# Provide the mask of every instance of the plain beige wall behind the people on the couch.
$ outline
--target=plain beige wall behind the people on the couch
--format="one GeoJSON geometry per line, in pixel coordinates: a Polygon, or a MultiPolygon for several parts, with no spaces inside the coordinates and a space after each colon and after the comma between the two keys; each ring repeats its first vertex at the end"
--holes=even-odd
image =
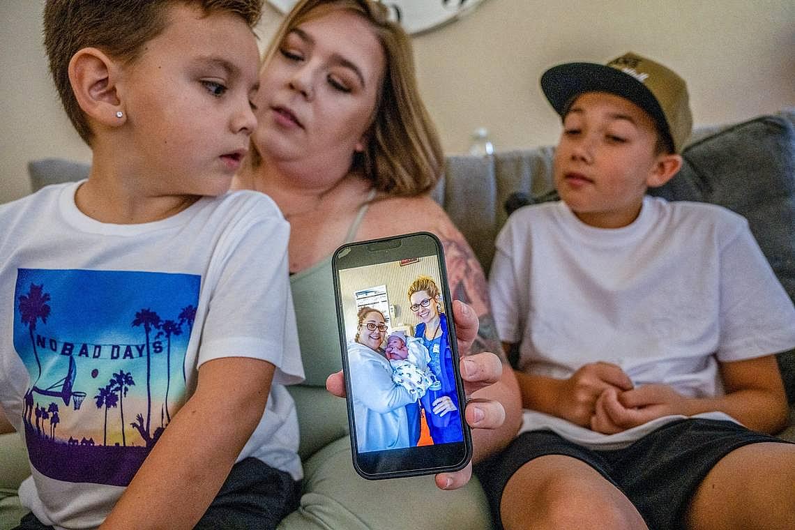
{"type": "MultiPolygon", "coordinates": [[[[0,0],[0,203],[29,192],[30,159],[90,160],[48,77],[41,6],[0,0]]],[[[267,10],[264,39],[277,21],[267,10]]],[[[630,50],[687,79],[696,125],[795,105],[792,0],[487,0],[414,44],[421,91],[448,153],[465,152],[479,126],[497,149],[553,143],[558,120],[538,87],[545,68],[630,50]]]]}

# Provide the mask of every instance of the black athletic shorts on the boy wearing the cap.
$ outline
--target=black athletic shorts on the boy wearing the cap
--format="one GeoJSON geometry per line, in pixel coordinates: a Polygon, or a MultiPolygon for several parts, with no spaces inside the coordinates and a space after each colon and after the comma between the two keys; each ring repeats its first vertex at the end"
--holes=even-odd
{"type": "Polygon", "coordinates": [[[684,528],[691,497],[721,458],[760,442],[789,443],[732,421],[703,419],[673,421],[612,451],[593,451],[552,431],[530,431],[477,464],[475,474],[486,491],[496,528],[502,528],[502,491],[514,473],[533,458],[566,455],[587,463],[621,490],[650,529],[669,530],[684,528]]]}

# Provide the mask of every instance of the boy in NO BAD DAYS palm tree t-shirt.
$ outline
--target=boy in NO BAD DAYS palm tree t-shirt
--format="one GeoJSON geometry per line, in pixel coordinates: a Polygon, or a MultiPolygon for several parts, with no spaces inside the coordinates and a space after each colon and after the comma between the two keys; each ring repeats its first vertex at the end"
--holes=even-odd
{"type": "Polygon", "coordinates": [[[273,528],[301,478],[289,226],[225,194],[257,124],[262,1],[135,4],[47,2],[91,174],[0,207],[21,528],[273,528]]]}

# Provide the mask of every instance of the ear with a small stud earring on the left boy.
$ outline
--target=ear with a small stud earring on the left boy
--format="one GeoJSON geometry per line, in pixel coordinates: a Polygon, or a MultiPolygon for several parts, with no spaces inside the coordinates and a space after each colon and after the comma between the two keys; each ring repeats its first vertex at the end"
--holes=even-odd
{"type": "Polygon", "coordinates": [[[77,103],[91,121],[105,126],[126,121],[116,86],[120,68],[114,60],[97,48],[82,48],[69,61],[68,72],[77,103]]]}

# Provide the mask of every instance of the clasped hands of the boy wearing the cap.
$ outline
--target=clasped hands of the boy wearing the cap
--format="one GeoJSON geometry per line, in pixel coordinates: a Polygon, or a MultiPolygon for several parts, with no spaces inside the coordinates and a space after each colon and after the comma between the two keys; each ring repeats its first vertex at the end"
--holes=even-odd
{"type": "Polygon", "coordinates": [[[661,416],[684,413],[685,398],[669,385],[634,388],[608,362],[580,367],[561,387],[558,416],[603,434],[615,434],[661,416]]]}

